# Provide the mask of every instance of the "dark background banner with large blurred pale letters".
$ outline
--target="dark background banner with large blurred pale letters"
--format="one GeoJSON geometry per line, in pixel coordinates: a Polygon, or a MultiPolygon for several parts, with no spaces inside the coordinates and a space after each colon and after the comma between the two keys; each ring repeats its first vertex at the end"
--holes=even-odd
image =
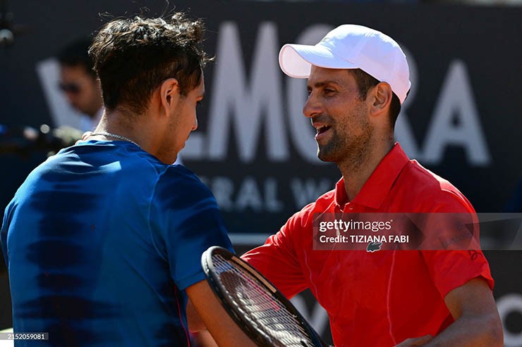
{"type": "MultiPolygon", "coordinates": [[[[198,109],[200,126],[181,156],[212,189],[238,249],[265,241],[340,178],[335,165],[316,158],[315,130],[301,113],[305,80],[286,77],[277,54],[285,43],[315,44],[344,23],[389,34],[406,52],[413,86],[396,125],[396,139],[406,153],[449,179],[478,212],[522,212],[522,189],[517,193],[522,178],[521,6],[9,1],[10,23],[18,29],[13,29],[13,40],[0,38],[4,134],[42,124],[78,127],[78,114],[57,87],[56,52],[110,18],[140,13],[145,6],[145,15],[175,7],[207,23],[205,47],[217,60],[205,69],[207,96],[198,109]]],[[[0,146],[1,134],[0,128],[0,146]]],[[[38,151],[0,151],[2,213],[18,185],[44,158],[38,151]]],[[[500,301],[510,320],[511,344],[506,346],[522,346],[519,253],[490,253],[497,299],[509,298],[500,301]],[[503,276],[516,280],[504,281],[503,276]]],[[[323,324],[319,318],[317,322],[323,324]]]]}

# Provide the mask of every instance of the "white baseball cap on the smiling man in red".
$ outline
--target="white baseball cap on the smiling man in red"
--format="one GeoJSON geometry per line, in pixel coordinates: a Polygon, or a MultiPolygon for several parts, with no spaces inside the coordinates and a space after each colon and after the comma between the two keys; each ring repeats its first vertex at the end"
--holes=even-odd
{"type": "Polygon", "coordinates": [[[403,103],[411,87],[408,62],[391,37],[362,25],[345,24],[329,32],[318,44],[285,44],[279,65],[286,75],[308,78],[312,65],[331,69],[360,69],[387,82],[403,103]]]}

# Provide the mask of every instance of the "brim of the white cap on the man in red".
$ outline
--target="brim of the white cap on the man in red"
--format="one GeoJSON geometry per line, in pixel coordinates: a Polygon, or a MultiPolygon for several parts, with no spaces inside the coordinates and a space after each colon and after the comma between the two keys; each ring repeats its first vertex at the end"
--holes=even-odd
{"type": "Polygon", "coordinates": [[[312,65],[330,69],[355,69],[353,63],[339,58],[320,44],[285,44],[279,51],[279,66],[286,75],[308,78],[312,65]]]}

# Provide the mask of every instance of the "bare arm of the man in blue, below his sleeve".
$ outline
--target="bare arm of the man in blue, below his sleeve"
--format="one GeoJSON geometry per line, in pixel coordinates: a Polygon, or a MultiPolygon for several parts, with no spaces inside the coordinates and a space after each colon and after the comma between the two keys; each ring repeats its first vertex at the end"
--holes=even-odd
{"type": "MultiPolygon", "coordinates": [[[[226,313],[221,303],[214,296],[214,292],[210,289],[207,281],[201,281],[189,286],[186,292],[196,311],[195,313],[198,313],[200,320],[212,334],[218,346],[257,346],[226,313]]],[[[201,330],[203,326],[201,322],[198,322],[198,315],[195,315],[193,308],[190,307],[190,303],[187,305],[187,319],[190,331],[195,332],[201,330]]]]}

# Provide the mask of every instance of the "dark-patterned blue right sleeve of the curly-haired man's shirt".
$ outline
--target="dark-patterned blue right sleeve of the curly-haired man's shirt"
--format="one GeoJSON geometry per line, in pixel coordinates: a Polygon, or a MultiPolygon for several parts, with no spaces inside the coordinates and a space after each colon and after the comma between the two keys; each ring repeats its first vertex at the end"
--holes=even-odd
{"type": "Polygon", "coordinates": [[[154,244],[169,262],[178,289],[205,279],[201,255],[210,246],[233,251],[210,189],[190,170],[176,165],[159,179],[150,215],[154,244]]]}

